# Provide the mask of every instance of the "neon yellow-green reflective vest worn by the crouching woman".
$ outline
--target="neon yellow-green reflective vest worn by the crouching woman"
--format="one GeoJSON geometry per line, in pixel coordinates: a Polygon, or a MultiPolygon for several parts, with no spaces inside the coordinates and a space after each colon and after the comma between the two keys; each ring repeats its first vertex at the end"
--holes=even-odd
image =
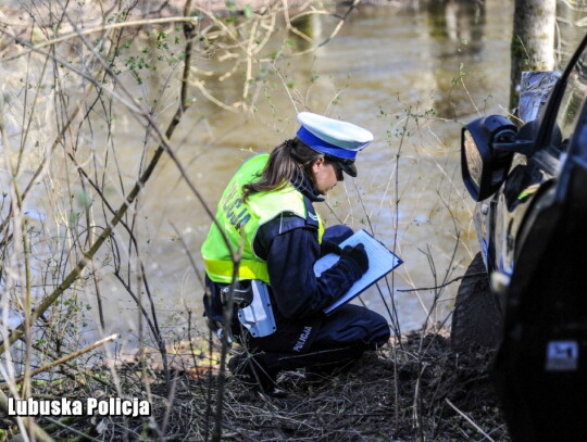
{"type": "MultiPolygon", "coordinates": [[[[303,194],[290,185],[271,192],[254,193],[246,203],[242,202],[242,186],[257,179],[267,160],[268,154],[255,155],[240,166],[218,202],[216,220],[233,250],[242,248],[238,279],[260,279],[270,283],[267,265],[253,250],[259,227],[282,213],[294,213],[303,219],[308,214],[303,194]]],[[[324,226],[319,216],[319,241],[322,241],[323,232],[324,226]]],[[[201,252],[209,278],[214,282],[229,283],[234,266],[216,224],[211,226],[201,252]]]]}

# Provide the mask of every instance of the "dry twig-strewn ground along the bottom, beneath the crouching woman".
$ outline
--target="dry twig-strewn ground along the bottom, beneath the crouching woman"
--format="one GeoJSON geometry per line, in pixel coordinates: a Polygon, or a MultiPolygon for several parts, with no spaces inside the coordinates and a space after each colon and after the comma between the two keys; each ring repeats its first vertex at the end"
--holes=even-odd
{"type": "MultiPolygon", "coordinates": [[[[411,333],[401,343],[365,354],[346,374],[283,374],[278,396],[250,391],[227,375],[222,440],[509,441],[489,381],[491,358],[479,348],[452,351],[446,332],[411,333]]],[[[166,382],[159,371],[128,365],[116,377],[116,382],[100,380],[95,372],[83,382],[52,384],[46,394],[88,397],[100,391],[116,396],[123,391],[150,397],[150,418],[70,417],[40,419],[39,425],[55,440],[214,440],[216,375],[191,369],[166,382]]],[[[0,440],[17,432],[1,417],[0,428],[9,430],[0,440]]]]}

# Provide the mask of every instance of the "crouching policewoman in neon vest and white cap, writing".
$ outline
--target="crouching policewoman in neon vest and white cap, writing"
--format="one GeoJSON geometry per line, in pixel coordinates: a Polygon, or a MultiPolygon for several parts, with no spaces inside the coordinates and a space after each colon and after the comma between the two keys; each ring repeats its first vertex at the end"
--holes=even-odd
{"type": "Polygon", "coordinates": [[[340,250],[337,244],[352,230],[324,230],[313,207],[344,172],[357,176],[354,159],[373,135],[310,112],[298,114],[298,122],[294,139],[247,160],[236,172],[201,250],[205,314],[214,327],[222,326],[233,279],[226,240],[235,251],[242,248],[236,314],[224,331],[232,329],[248,352],[233,357],[228,367],[265,391],[280,370],[328,371],[389,339],[387,320],[365,307],[346,304],[323,313],[367,270],[369,258],[362,244],[340,250]],[[314,263],[329,252],[339,261],[316,277],[314,263]]]}

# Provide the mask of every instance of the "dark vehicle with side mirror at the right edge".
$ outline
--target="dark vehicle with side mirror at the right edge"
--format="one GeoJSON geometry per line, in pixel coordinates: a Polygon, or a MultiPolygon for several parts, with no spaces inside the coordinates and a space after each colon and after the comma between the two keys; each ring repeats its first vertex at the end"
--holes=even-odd
{"type": "Polygon", "coordinates": [[[461,152],[482,251],[453,325],[501,342],[514,441],[587,441],[587,37],[535,119],[476,119],[461,152]]]}

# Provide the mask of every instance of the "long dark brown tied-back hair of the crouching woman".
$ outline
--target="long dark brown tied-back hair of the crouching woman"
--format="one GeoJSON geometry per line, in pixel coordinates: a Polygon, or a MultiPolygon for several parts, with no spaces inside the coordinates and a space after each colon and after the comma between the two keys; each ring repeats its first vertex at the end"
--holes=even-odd
{"type": "Polygon", "coordinates": [[[322,156],[298,137],[284,141],[271,152],[265,168],[259,174],[260,179],[242,186],[242,201],[253,193],[282,189],[295,177],[297,169],[302,169],[313,182],[312,164],[322,156]]]}

